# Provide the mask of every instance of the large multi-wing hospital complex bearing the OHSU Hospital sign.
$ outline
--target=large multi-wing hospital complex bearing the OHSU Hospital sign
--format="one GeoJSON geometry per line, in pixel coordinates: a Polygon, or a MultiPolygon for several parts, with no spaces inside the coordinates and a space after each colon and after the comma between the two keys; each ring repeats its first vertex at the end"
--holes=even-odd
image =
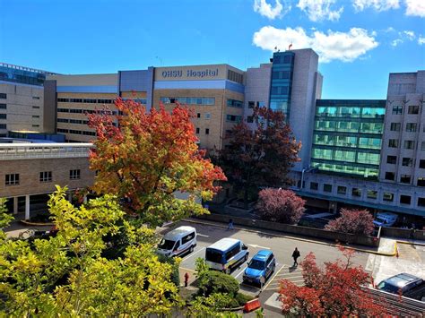
{"type": "MultiPolygon", "coordinates": [[[[85,113],[117,96],[146,108],[179,102],[194,111],[201,148],[221,149],[230,128],[254,126],[256,106],[282,111],[300,161],[292,177],[300,195],[330,211],[344,205],[425,215],[424,71],[390,74],[384,100],[321,99],[323,78],[312,49],[275,52],[271,63],[241,71],[228,64],[149,67],[117,74],[50,75],[45,100],[57,107],[57,132],[89,142],[85,113]]],[[[51,105],[50,105],[51,107],[51,105]]]]}

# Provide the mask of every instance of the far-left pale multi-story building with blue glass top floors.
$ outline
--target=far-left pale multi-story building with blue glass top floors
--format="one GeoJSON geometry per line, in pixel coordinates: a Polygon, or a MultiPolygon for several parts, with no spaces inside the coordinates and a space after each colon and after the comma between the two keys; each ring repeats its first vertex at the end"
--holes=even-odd
{"type": "Polygon", "coordinates": [[[56,109],[45,107],[49,72],[0,63],[0,136],[10,131],[54,133],[56,109]]]}

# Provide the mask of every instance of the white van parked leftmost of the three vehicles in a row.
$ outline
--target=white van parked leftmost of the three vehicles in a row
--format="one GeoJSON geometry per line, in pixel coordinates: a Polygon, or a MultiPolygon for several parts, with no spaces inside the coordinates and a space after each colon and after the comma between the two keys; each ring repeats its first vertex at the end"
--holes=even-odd
{"type": "Polygon", "coordinates": [[[178,256],[194,252],[196,246],[196,229],[179,227],[167,233],[158,245],[157,253],[165,256],[178,256]]]}

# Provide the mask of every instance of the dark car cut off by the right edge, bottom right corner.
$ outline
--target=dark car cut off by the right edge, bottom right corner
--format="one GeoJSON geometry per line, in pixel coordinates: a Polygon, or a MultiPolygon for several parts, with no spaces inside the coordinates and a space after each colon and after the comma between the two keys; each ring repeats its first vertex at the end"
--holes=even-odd
{"type": "Polygon", "coordinates": [[[405,272],[382,280],[377,289],[419,300],[425,297],[425,281],[405,272]]]}

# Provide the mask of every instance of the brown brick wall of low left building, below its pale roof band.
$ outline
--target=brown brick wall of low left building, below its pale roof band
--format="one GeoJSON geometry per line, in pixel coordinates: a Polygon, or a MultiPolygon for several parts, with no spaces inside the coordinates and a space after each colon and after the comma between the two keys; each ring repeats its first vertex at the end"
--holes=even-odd
{"type": "Polygon", "coordinates": [[[88,158],[13,159],[2,160],[0,197],[10,198],[27,194],[52,193],[55,185],[67,185],[70,190],[93,185],[94,171],[88,158]],[[80,169],[80,178],[70,179],[70,170],[80,169]],[[51,171],[51,182],[40,182],[39,173],[51,171]],[[5,176],[19,174],[19,185],[5,185],[5,176]]]}

